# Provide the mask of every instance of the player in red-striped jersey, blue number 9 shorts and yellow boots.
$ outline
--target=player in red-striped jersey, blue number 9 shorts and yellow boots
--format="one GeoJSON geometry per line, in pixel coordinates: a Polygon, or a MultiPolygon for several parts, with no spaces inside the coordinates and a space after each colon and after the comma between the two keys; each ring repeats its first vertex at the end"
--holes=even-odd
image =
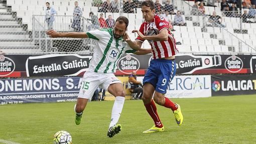
{"type": "Polygon", "coordinates": [[[178,125],[182,124],[183,115],[180,105],[165,97],[169,84],[176,73],[175,55],[178,54],[175,39],[168,29],[169,23],[162,16],[155,14],[155,6],[152,1],[142,3],[142,13],[145,22],[139,31],[133,31],[139,36],[135,42],[129,45],[141,47],[143,42],[148,40],[152,49],[152,60],[143,80],[142,97],[148,113],[155,122],[152,128],[143,131],[150,133],[164,131],[164,125],[157,113],[155,102],[170,108],[178,125]],[[152,100],[153,94],[155,102],[152,100]]]}

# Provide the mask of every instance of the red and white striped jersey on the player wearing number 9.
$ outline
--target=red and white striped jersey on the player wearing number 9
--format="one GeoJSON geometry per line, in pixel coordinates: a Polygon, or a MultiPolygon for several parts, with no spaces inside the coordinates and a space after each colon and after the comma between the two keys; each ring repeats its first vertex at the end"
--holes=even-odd
{"type": "MultiPolygon", "coordinates": [[[[179,53],[175,45],[175,39],[169,31],[169,23],[162,16],[155,14],[151,23],[145,21],[141,25],[140,32],[145,36],[154,36],[163,29],[168,30],[168,41],[149,41],[152,49],[152,59],[167,58],[179,53]]],[[[136,40],[145,41],[140,37],[137,37],[136,40]]]]}

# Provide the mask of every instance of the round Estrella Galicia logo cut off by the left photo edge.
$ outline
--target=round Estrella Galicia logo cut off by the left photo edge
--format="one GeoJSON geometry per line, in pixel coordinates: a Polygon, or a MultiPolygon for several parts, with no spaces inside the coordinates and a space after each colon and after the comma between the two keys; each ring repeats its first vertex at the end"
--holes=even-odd
{"type": "Polygon", "coordinates": [[[12,59],[0,55],[0,76],[7,76],[15,70],[15,63],[12,59]]]}

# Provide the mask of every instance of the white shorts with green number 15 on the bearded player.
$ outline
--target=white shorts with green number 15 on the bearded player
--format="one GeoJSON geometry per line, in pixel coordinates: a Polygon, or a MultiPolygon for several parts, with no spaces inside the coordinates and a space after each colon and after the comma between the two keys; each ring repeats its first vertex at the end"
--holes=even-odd
{"type": "Polygon", "coordinates": [[[118,80],[113,73],[96,73],[86,71],[83,75],[78,98],[86,98],[91,100],[94,91],[98,86],[107,91],[109,85],[113,83],[121,83],[121,81],[118,80]]]}

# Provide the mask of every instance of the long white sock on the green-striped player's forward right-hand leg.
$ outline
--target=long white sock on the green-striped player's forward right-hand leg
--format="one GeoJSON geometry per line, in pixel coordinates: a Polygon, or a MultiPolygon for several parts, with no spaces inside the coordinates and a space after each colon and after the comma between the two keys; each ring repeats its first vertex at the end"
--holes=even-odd
{"type": "MultiPolygon", "coordinates": [[[[112,108],[112,113],[111,113],[111,121],[109,124],[109,127],[115,125],[120,117],[120,114],[122,112],[122,107],[124,104],[124,97],[122,96],[116,96],[115,97],[115,101],[114,101],[114,105],[112,108]]],[[[109,128],[108,127],[108,128],[109,128]]]]}

